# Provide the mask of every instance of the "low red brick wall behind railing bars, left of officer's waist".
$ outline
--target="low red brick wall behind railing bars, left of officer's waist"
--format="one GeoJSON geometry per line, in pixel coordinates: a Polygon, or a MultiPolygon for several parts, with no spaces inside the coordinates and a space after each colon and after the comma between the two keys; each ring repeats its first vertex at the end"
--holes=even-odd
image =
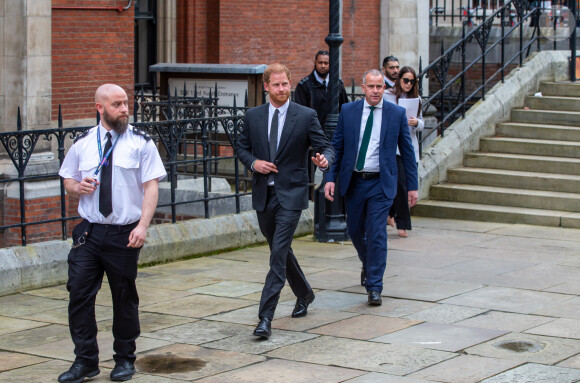
{"type": "MultiPolygon", "coordinates": [[[[17,198],[4,198],[3,226],[20,224],[20,200],[17,198]]],[[[67,216],[77,216],[78,198],[66,196],[67,216]]],[[[35,198],[26,200],[24,207],[26,223],[34,223],[49,219],[61,218],[60,196],[35,198]]],[[[79,220],[67,222],[67,238],[71,237],[74,226],[79,220]]],[[[62,239],[62,224],[60,221],[30,225],[26,227],[26,243],[38,243],[62,239]]],[[[0,233],[0,247],[22,245],[20,227],[5,229],[0,233]]]]}

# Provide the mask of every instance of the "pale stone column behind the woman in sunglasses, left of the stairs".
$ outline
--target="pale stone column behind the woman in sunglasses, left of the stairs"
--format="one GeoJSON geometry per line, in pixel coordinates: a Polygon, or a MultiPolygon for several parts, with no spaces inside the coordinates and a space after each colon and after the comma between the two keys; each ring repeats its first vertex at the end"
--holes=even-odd
{"type": "Polygon", "coordinates": [[[419,71],[429,63],[429,1],[381,0],[380,61],[393,55],[419,71]]]}

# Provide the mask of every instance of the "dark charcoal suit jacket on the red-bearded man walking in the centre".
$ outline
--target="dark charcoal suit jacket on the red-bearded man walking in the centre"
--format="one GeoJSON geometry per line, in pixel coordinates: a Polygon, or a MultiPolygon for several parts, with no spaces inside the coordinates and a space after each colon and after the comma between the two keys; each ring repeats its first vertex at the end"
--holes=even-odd
{"type": "MultiPolygon", "coordinates": [[[[287,210],[308,207],[308,149],[324,154],[329,166],[334,160],[330,141],[324,135],[310,108],[290,102],[278,143],[276,158],[270,159],[268,146],[268,108],[270,104],[248,109],[244,127],[238,140],[238,158],[251,170],[255,160],[265,160],[276,165],[274,173],[276,195],[280,205],[287,210]]],[[[254,172],[252,178],[252,204],[256,211],[266,207],[268,175],[254,172]]]]}

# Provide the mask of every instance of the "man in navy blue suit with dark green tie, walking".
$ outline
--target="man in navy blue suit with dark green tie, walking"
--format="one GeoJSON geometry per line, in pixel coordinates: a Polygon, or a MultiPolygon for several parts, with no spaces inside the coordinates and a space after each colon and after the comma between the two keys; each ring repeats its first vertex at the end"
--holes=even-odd
{"type": "Polygon", "coordinates": [[[364,100],[344,104],[332,146],[335,159],[326,174],[324,194],[344,196],[346,225],[362,262],[361,284],[369,305],[381,305],[387,266],[387,216],[397,193],[397,146],[407,176],[409,206],[417,203],[417,164],[405,109],[383,101],[385,82],[377,69],[365,72],[364,100]]]}

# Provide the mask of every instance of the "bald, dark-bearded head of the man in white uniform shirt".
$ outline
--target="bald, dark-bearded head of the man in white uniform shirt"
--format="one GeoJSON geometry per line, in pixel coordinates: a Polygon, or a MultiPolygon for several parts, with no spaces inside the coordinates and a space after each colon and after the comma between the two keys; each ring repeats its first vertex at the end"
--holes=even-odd
{"type": "Polygon", "coordinates": [[[103,84],[95,92],[95,104],[101,124],[107,130],[124,133],[129,125],[129,99],[118,85],[103,84]]]}

